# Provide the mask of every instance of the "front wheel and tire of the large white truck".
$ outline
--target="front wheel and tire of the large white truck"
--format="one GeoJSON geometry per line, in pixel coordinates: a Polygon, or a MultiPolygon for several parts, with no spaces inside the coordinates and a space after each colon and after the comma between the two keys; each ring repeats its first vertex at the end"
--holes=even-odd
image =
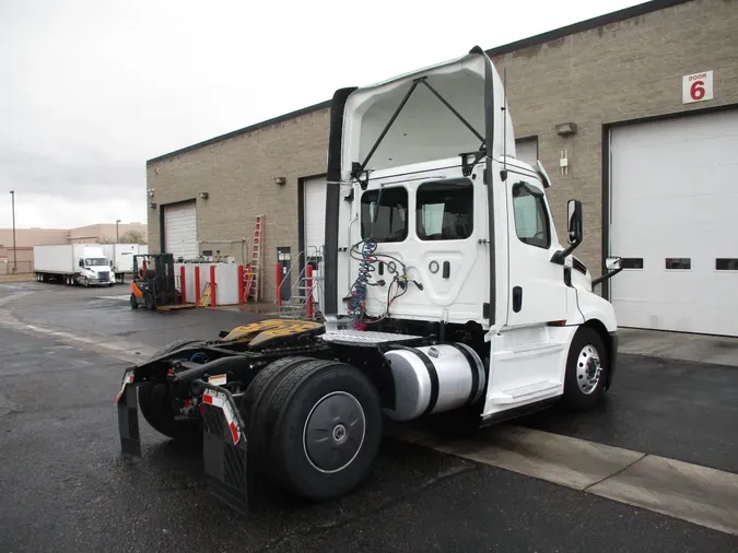
{"type": "Polygon", "coordinates": [[[610,369],[605,342],[591,328],[582,327],[574,334],[564,377],[565,407],[576,411],[590,409],[605,398],[605,383],[610,369]]]}

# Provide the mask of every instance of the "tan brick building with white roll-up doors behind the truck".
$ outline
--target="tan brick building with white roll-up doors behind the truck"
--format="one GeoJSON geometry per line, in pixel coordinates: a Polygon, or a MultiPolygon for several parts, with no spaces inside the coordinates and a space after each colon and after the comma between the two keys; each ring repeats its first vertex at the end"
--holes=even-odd
{"type": "MultiPolygon", "coordinates": [[[[577,257],[595,275],[624,258],[601,291],[623,326],[738,334],[738,242],[725,238],[738,234],[736,28],[738,2],[655,0],[488,50],[506,71],[518,157],[552,176],[557,226],[581,199],[577,257]],[[727,299],[691,292],[716,286],[727,299]]],[[[278,248],[319,246],[328,116],[326,102],[150,160],[152,250],[241,260],[258,214],[267,268],[278,248]]]]}

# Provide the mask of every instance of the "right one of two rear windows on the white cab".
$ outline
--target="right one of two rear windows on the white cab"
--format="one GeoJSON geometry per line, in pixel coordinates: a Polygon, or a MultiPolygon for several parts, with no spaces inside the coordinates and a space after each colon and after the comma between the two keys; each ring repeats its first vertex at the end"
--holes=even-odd
{"type": "Polygon", "coordinates": [[[421,240],[462,240],[473,230],[470,181],[427,183],[418,187],[415,232],[421,240]]]}

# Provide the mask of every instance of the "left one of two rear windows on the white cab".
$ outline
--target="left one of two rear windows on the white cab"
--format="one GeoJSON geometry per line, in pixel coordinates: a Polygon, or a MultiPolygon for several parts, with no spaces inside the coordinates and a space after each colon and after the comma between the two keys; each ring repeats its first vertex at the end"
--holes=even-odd
{"type": "Polygon", "coordinates": [[[402,242],[408,237],[408,191],[405,188],[383,188],[382,195],[379,190],[363,193],[361,237],[374,238],[377,243],[402,242]]]}

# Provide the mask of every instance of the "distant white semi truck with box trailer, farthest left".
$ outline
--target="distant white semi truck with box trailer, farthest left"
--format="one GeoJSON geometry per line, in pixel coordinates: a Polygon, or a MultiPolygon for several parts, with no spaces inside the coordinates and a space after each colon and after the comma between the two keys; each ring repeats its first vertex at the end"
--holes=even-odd
{"type": "Polygon", "coordinates": [[[110,259],[99,244],[60,244],[34,246],[34,273],[38,282],[67,285],[113,286],[110,259]]]}

